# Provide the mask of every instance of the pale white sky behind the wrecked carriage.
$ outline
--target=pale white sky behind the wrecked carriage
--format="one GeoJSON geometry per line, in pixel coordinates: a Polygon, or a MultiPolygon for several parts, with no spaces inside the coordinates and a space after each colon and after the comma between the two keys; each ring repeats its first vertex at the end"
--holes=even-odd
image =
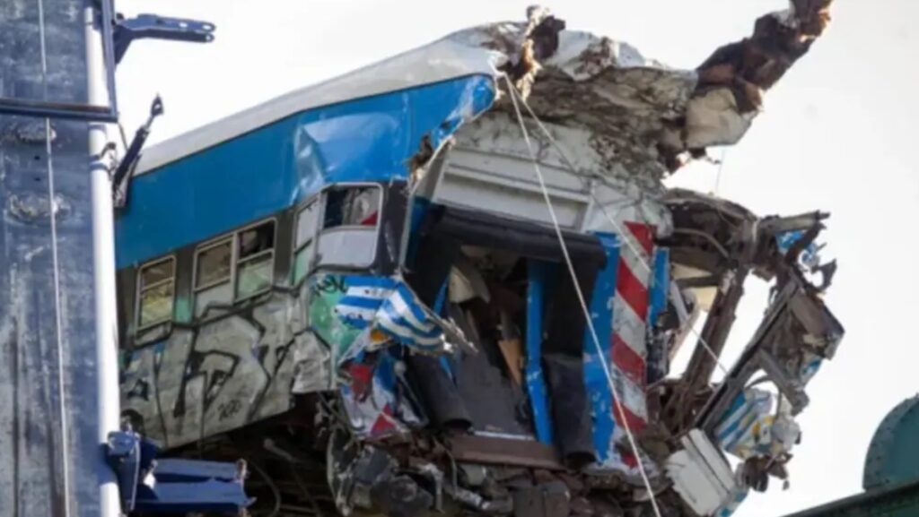
{"type": "MultiPolygon", "coordinates": [[[[157,93],[165,140],[301,86],[346,73],[459,28],[521,20],[532,2],[349,0],[122,0],[127,15],[208,20],[210,44],[140,40],[119,65],[119,105],[129,135],[157,93]]],[[[784,0],[566,0],[544,4],[568,23],[627,41],[646,57],[694,68],[718,46],[752,32],[784,0]]],[[[832,213],[824,256],[839,261],[826,301],[846,328],[833,361],[808,387],[803,442],[791,486],[772,483],[738,517],[778,517],[861,490],[868,443],[884,415],[919,390],[919,343],[910,324],[919,269],[912,128],[919,86],[914,0],[836,0],[834,22],[766,96],[765,112],[719,168],[695,163],[670,185],[715,192],[761,215],[832,213]],[[886,273],[885,273],[886,272],[886,273]],[[882,275],[883,273],[883,275],[882,275]]],[[[716,152],[720,157],[720,152],[716,152]]],[[[766,307],[758,279],[746,296],[724,362],[743,349],[766,307]]],[[[688,354],[689,346],[684,352],[688,354]]],[[[683,358],[685,359],[685,358],[683,358]]]]}

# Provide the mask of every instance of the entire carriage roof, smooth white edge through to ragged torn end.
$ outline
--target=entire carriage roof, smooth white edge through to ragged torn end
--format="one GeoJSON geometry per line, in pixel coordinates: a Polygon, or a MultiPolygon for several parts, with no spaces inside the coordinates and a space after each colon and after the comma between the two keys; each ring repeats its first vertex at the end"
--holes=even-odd
{"type": "MultiPolygon", "coordinates": [[[[154,146],[148,172],[282,118],[317,107],[467,75],[508,73],[532,94],[540,118],[588,129],[607,174],[660,178],[711,145],[743,137],[762,92],[808,51],[828,21],[831,0],[795,0],[760,17],[752,37],[715,51],[697,70],[669,68],[628,43],[566,30],[547,10],[528,23],[461,30],[335,79],[307,86],[154,146]],[[522,82],[521,79],[524,79],[522,82]]],[[[505,102],[504,109],[508,106],[505,102]]]]}

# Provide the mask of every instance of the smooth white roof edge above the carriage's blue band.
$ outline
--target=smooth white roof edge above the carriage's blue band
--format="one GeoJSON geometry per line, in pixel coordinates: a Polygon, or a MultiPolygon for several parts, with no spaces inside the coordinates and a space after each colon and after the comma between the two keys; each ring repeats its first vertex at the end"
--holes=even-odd
{"type": "Polygon", "coordinates": [[[503,59],[503,54],[497,51],[463,45],[448,38],[439,39],[345,75],[294,90],[165,140],[143,151],[134,174],[152,171],[166,163],[175,162],[313,107],[467,75],[494,75],[496,65],[503,59]]]}

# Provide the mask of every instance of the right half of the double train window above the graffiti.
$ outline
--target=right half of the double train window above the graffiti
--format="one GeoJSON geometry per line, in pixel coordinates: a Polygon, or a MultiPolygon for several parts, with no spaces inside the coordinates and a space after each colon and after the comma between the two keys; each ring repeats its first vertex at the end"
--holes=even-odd
{"type": "Polygon", "coordinates": [[[275,221],[269,220],[240,231],[237,246],[236,298],[249,298],[271,287],[275,263],[275,221]]]}

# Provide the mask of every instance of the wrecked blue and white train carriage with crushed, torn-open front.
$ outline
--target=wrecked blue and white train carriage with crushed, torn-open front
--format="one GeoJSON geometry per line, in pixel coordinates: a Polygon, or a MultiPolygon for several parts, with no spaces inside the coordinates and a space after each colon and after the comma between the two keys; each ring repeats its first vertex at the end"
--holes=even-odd
{"type": "MultiPolygon", "coordinates": [[[[828,312],[799,264],[777,258],[790,230],[819,220],[760,227],[740,209],[752,239],[700,228],[693,217],[718,202],[685,210],[660,183],[687,149],[674,135],[694,134],[672,123],[698,98],[695,74],[534,19],[461,32],[144,152],[117,219],[122,408],[137,428],[176,454],[247,456],[262,499],[291,509],[567,515],[641,506],[642,471],[662,504],[698,514],[745,493],[716,447],[778,453],[743,457],[720,424],[749,406],[755,361],[776,346],[751,343],[715,392],[710,364],[664,379],[702,305],[693,292],[708,287],[685,276],[733,286],[712,304],[728,315],[748,269],[794,284],[777,298],[783,360],[805,337],[838,341],[841,329],[800,331],[789,299],[828,312]],[[517,118],[521,106],[552,122],[517,118]],[[692,256],[711,248],[727,260],[692,256]],[[577,500],[590,489],[614,497],[577,500]]],[[[726,339],[719,320],[703,340],[726,339]]]]}

